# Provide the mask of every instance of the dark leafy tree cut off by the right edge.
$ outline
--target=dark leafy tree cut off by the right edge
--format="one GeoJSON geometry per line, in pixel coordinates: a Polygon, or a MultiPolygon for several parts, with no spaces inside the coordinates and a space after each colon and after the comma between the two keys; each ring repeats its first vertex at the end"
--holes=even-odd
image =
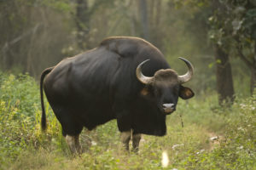
{"type": "Polygon", "coordinates": [[[256,88],[256,2],[225,2],[231,16],[236,52],[251,70],[251,94],[256,88]]]}

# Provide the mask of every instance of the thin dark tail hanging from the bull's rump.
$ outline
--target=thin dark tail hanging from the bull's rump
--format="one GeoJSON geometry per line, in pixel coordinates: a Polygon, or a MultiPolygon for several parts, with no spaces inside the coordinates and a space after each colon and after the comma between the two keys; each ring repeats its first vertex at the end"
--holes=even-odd
{"type": "Polygon", "coordinates": [[[44,83],[44,77],[49,74],[50,71],[52,71],[54,67],[49,67],[45,69],[41,74],[40,79],[40,94],[41,94],[41,106],[42,106],[42,116],[41,116],[41,128],[43,131],[46,129],[46,116],[45,116],[45,110],[44,110],[44,93],[43,93],[43,83],[44,83]]]}

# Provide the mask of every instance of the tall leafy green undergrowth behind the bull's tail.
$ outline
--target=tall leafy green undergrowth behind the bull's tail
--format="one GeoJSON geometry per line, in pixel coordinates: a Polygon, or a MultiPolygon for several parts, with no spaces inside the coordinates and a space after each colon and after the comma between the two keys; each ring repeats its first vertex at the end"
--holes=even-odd
{"type": "Polygon", "coordinates": [[[0,164],[15,160],[24,150],[58,144],[55,139],[61,136],[61,130],[49,105],[49,130],[41,133],[39,91],[32,77],[0,72],[0,87],[0,164]]]}

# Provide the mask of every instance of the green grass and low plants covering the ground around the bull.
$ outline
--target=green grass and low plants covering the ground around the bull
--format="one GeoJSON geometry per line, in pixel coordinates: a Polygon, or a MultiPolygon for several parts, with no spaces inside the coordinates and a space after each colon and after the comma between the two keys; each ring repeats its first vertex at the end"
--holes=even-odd
{"type": "Polygon", "coordinates": [[[73,156],[48,104],[48,128],[41,132],[32,77],[0,73],[0,86],[0,169],[256,169],[256,96],[230,108],[219,107],[216,94],[180,99],[167,117],[167,135],[143,135],[138,154],[125,152],[116,121],[108,122],[84,130],[85,151],[73,156]],[[213,142],[214,136],[219,138],[213,142]],[[168,167],[161,165],[163,151],[168,167]]]}

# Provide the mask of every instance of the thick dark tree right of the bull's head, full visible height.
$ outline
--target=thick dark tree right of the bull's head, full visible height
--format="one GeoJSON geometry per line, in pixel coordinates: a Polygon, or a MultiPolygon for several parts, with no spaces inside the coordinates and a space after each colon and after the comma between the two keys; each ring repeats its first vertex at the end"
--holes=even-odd
{"type": "Polygon", "coordinates": [[[211,8],[209,36],[214,46],[218,103],[222,105],[224,101],[232,103],[235,95],[229,59],[230,29],[224,28],[223,19],[227,17],[224,5],[218,1],[212,1],[211,8]]]}

